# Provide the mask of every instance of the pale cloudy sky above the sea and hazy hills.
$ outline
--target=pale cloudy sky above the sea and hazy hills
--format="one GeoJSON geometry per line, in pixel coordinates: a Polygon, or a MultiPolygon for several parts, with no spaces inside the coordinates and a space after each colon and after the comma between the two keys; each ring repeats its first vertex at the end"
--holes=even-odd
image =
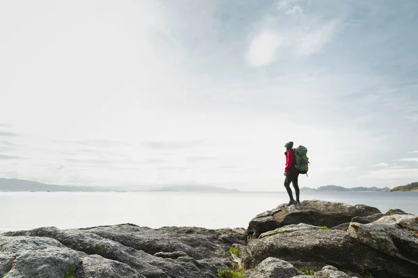
{"type": "Polygon", "coordinates": [[[418,181],[418,1],[0,2],[0,177],[284,190],[418,181]]]}

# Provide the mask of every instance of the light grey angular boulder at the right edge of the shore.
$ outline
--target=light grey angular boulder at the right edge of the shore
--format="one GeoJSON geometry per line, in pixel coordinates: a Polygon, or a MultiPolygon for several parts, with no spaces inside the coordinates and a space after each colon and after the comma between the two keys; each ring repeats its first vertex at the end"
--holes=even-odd
{"type": "Polygon", "coordinates": [[[351,222],[350,236],[390,256],[418,265],[418,217],[415,215],[387,215],[375,222],[351,222]]]}

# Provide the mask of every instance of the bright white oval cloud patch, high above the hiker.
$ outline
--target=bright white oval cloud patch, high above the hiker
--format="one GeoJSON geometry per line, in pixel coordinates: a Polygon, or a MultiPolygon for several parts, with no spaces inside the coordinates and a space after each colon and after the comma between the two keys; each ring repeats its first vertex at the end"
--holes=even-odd
{"type": "Polygon", "coordinates": [[[253,67],[269,65],[274,61],[277,48],[281,44],[279,35],[272,31],[259,33],[249,45],[247,59],[253,67]]]}

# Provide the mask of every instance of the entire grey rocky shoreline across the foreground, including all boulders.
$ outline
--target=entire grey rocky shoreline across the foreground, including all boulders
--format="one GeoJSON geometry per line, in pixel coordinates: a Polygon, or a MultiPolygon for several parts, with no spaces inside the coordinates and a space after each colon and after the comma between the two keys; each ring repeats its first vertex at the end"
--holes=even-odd
{"type": "Polygon", "coordinates": [[[256,215],[247,229],[120,224],[0,233],[3,278],[194,278],[218,272],[252,278],[417,277],[418,217],[310,200],[256,215]]]}

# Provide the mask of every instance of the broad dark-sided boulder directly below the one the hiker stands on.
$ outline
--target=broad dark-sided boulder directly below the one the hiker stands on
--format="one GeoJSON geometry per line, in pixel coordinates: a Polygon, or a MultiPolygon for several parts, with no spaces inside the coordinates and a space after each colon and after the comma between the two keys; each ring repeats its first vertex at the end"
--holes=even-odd
{"type": "Polygon", "coordinates": [[[268,257],[274,257],[297,268],[307,269],[305,263],[320,267],[334,265],[344,272],[357,274],[366,269],[374,277],[412,278],[418,273],[418,265],[363,245],[347,231],[286,227],[282,231],[249,240],[247,250],[240,252],[245,267],[254,268],[268,257]]]}

